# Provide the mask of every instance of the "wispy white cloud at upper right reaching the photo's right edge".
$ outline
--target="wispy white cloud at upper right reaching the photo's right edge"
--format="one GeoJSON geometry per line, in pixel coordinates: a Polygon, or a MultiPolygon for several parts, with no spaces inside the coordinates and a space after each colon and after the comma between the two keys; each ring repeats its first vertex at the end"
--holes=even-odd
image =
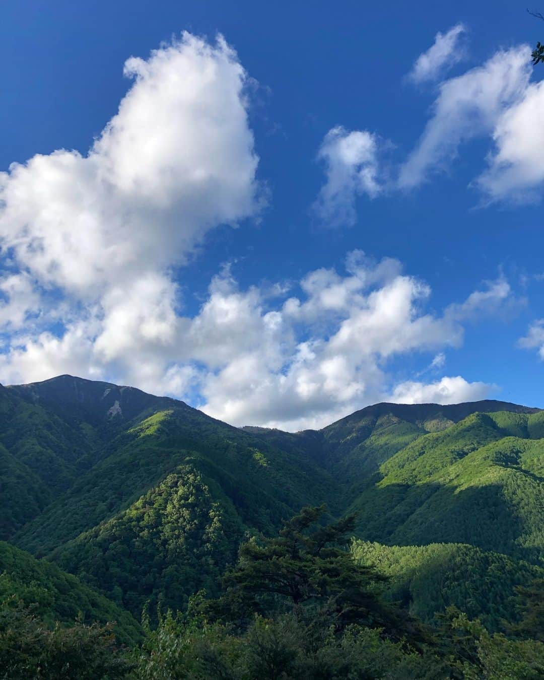
{"type": "MultiPolygon", "coordinates": [[[[444,36],[445,37],[445,36],[444,36]]],[[[422,55],[423,56],[423,55],[422,55]]],[[[488,137],[488,167],[472,186],[483,203],[534,202],[544,186],[544,82],[531,83],[530,48],[499,51],[481,67],[442,82],[432,117],[398,178],[413,188],[447,171],[462,143],[488,137]]]]}

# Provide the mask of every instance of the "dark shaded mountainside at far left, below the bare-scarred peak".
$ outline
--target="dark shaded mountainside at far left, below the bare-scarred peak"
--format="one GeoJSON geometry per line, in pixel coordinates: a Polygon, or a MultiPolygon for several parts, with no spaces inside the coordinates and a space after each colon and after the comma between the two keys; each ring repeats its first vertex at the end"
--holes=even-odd
{"type": "Polygon", "coordinates": [[[183,402],[69,375],[0,386],[0,539],[108,455],[133,418],[183,402]]]}

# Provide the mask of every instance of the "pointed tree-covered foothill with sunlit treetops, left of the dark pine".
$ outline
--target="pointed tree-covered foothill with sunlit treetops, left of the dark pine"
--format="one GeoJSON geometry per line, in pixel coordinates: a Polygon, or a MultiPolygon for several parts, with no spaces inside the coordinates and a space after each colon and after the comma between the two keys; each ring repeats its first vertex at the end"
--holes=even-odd
{"type": "Polygon", "coordinates": [[[146,602],[182,609],[197,590],[214,592],[242,535],[232,503],[187,464],[52,558],[137,616],[146,602]]]}

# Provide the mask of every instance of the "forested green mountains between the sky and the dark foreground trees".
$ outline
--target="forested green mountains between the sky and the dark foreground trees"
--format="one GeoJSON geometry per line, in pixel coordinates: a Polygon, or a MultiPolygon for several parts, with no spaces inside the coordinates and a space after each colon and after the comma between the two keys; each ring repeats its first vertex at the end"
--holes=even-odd
{"type": "Polygon", "coordinates": [[[322,524],[356,513],[352,555],[390,600],[496,632],[544,575],[543,484],[544,411],[499,401],[383,403],[289,433],[71,376],[0,387],[0,537],[17,547],[0,544],[2,593],[28,603],[20,562],[52,593],[49,620],[122,614],[128,639],[144,607],[154,626],[157,608],[220,596],[241,544],[326,503],[322,524]]]}

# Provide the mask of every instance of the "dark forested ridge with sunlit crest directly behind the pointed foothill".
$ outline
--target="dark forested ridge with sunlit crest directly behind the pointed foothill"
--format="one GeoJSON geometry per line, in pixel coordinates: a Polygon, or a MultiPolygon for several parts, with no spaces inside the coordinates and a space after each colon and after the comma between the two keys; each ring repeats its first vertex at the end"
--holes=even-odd
{"type": "Polygon", "coordinates": [[[187,458],[198,458],[232,498],[243,522],[270,532],[305,503],[330,500],[337,483],[311,460],[293,456],[186,405],[131,422],[103,458],[14,542],[35,554],[123,511],[187,458]]]}

